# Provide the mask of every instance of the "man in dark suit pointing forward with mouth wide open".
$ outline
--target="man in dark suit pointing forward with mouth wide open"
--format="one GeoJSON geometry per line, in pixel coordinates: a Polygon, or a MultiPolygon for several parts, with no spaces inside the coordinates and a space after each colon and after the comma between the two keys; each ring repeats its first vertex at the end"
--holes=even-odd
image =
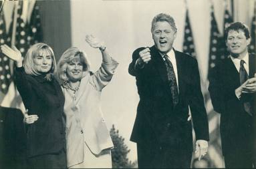
{"type": "Polygon", "coordinates": [[[139,168],[189,168],[192,123],[200,157],[207,153],[209,126],[197,60],[172,48],[174,19],[160,13],[152,20],[154,46],[132,54],[129,73],[136,77],[140,102],[130,140],[137,143],[139,168]]]}

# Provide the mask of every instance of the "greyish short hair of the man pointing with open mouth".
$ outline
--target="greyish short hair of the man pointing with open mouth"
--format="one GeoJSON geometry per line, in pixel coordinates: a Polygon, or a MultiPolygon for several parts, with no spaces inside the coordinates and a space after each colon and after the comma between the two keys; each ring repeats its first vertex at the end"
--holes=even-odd
{"type": "Polygon", "coordinates": [[[153,33],[153,31],[154,31],[154,27],[155,27],[156,23],[157,22],[163,22],[163,21],[168,22],[170,24],[170,26],[172,27],[172,30],[174,32],[177,31],[177,27],[175,25],[174,18],[172,16],[166,14],[166,13],[159,13],[152,20],[152,23],[151,23],[151,33],[153,33]]]}

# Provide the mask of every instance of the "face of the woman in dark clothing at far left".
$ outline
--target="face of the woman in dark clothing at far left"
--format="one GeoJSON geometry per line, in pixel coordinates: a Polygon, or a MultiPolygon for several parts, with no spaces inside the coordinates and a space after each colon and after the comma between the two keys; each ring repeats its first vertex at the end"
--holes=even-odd
{"type": "Polygon", "coordinates": [[[39,51],[39,55],[33,57],[33,63],[38,73],[48,73],[52,65],[51,53],[47,50],[39,51]]]}

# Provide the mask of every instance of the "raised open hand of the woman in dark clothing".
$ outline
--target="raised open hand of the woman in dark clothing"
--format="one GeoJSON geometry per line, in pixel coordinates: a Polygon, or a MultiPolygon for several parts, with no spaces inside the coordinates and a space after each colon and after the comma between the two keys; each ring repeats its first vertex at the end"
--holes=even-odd
{"type": "Polygon", "coordinates": [[[21,52],[15,46],[1,45],[1,51],[13,61],[22,63],[21,52]]]}

